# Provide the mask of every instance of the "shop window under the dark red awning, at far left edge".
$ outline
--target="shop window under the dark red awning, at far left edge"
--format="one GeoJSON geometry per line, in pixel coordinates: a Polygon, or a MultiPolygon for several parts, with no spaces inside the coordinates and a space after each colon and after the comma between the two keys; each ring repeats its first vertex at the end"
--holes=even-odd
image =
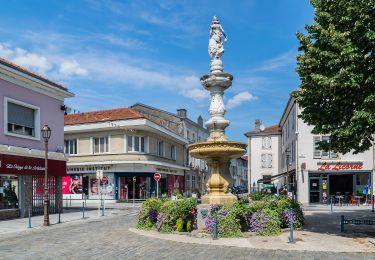
{"type": "Polygon", "coordinates": [[[18,208],[17,177],[0,177],[0,210],[18,208]]]}

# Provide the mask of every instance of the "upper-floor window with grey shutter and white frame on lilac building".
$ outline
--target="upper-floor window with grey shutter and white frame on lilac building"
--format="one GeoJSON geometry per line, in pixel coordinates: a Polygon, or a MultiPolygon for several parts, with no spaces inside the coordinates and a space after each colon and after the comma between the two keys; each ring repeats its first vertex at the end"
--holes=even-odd
{"type": "Polygon", "coordinates": [[[4,99],[4,132],[17,137],[39,139],[39,107],[10,98],[4,99]]]}

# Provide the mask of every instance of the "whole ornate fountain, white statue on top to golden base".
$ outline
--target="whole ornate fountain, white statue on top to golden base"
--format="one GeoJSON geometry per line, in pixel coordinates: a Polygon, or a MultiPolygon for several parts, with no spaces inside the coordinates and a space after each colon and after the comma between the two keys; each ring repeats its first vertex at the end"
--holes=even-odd
{"type": "Polygon", "coordinates": [[[246,144],[228,141],[225,128],[229,121],[225,119],[223,101],[224,91],[232,85],[233,76],[223,71],[221,56],[227,36],[218,19],[214,16],[210,26],[208,53],[211,56],[210,74],[201,77],[203,87],[210,91],[210,119],[206,126],[210,136],[205,142],[189,146],[190,154],[207,161],[211,172],[206,183],[208,194],[202,197],[203,204],[232,204],[237,198],[229,192],[232,178],[229,173],[230,159],[246,153],[246,144]]]}

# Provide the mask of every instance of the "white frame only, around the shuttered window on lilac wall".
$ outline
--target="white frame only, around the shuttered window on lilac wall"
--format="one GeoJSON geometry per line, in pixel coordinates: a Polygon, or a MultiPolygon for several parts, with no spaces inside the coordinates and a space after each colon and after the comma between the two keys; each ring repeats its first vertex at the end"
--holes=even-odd
{"type": "Polygon", "coordinates": [[[40,140],[40,107],[25,103],[20,100],[16,100],[9,97],[4,97],[4,134],[30,140],[40,140]],[[13,103],[23,107],[31,108],[34,110],[34,133],[35,136],[20,135],[12,132],[8,132],[8,103],[13,103]]]}

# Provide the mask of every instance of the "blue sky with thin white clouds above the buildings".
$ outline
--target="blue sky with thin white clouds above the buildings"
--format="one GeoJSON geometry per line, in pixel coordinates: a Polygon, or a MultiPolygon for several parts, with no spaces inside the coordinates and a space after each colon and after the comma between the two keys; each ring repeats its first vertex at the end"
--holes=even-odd
{"type": "Polygon", "coordinates": [[[16,1],[0,9],[0,56],[67,86],[66,104],[82,112],[142,102],[208,119],[212,16],[228,42],[223,65],[230,139],[260,118],[279,122],[295,72],[297,31],[311,23],[308,0],[16,1]]]}

